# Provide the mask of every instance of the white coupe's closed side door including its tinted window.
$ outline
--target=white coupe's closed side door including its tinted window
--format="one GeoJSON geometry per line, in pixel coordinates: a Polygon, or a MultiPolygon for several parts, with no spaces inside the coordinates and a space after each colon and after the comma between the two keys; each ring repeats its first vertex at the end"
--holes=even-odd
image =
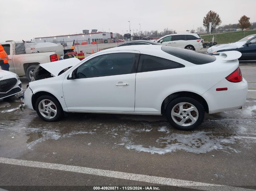
{"type": "Polygon", "coordinates": [[[62,84],[67,109],[134,112],[138,57],[139,51],[111,51],[79,65],[76,78],[62,84]]]}

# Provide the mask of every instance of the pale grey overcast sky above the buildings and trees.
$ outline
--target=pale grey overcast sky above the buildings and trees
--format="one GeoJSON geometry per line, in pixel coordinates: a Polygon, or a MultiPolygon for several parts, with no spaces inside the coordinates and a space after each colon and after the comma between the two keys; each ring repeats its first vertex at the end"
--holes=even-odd
{"type": "Polygon", "coordinates": [[[98,29],[122,34],[133,29],[176,31],[203,27],[210,10],[221,25],[238,23],[242,15],[256,22],[255,0],[0,0],[0,42],[30,40],[98,29]]]}

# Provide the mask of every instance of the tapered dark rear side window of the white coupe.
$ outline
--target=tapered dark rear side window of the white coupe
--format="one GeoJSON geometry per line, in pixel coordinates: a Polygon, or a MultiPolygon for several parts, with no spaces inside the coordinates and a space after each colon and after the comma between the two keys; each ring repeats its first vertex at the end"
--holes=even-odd
{"type": "Polygon", "coordinates": [[[171,68],[182,68],[184,65],[156,56],[141,54],[138,65],[138,72],[147,72],[153,70],[165,70],[171,68]]]}

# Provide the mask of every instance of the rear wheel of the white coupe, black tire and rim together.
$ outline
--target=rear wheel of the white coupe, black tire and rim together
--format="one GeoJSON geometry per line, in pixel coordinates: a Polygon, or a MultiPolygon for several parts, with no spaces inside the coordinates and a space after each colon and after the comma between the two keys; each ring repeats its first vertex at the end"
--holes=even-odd
{"type": "Polygon", "coordinates": [[[176,129],[192,130],[203,122],[204,107],[193,98],[179,97],[168,104],[166,118],[176,129]]]}

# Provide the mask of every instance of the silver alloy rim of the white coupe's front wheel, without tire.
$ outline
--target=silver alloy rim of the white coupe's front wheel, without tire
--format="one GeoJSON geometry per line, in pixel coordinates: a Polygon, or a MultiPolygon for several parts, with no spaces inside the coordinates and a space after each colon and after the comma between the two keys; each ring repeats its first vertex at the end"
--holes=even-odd
{"type": "Polygon", "coordinates": [[[42,100],[38,104],[40,114],[46,119],[52,119],[57,115],[57,107],[51,100],[42,100]]]}

